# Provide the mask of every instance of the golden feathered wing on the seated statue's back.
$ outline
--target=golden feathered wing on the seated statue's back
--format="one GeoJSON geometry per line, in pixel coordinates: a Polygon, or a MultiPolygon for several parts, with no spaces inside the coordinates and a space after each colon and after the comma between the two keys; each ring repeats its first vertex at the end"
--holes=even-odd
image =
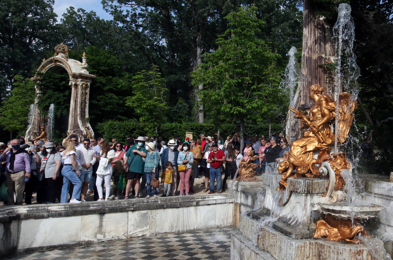
{"type": "Polygon", "coordinates": [[[340,93],[338,100],[338,142],[343,143],[347,139],[349,128],[351,127],[354,111],[358,107],[357,100],[351,100],[351,94],[348,92],[340,93]]]}

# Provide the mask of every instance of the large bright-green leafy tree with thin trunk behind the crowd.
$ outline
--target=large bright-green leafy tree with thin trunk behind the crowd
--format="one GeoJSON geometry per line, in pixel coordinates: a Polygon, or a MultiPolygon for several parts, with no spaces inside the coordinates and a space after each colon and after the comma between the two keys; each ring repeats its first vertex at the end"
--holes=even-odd
{"type": "Polygon", "coordinates": [[[204,63],[193,73],[205,110],[226,114],[240,122],[243,146],[244,120],[260,120],[277,108],[276,89],[280,78],[275,69],[278,56],[256,37],[263,21],[256,17],[257,7],[240,7],[225,18],[229,29],[217,39],[219,48],[207,53],[204,63]],[[220,101],[217,103],[217,101],[220,101]],[[258,116],[255,116],[258,114],[258,116]]]}

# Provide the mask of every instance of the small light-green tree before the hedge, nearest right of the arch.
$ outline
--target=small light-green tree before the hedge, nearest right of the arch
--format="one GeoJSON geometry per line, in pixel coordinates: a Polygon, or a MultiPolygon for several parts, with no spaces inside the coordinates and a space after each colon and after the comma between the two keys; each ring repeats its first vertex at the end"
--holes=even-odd
{"type": "Polygon", "coordinates": [[[132,94],[126,105],[140,116],[140,122],[147,123],[146,131],[158,134],[158,125],[163,122],[163,114],[168,108],[165,97],[168,89],[157,66],[150,71],[142,70],[132,78],[132,94]]]}

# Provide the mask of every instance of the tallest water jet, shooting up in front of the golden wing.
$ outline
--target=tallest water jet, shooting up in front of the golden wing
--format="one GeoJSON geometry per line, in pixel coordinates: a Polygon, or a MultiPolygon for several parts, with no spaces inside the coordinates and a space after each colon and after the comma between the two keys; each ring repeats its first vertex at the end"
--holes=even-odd
{"type": "MultiPolygon", "coordinates": [[[[355,39],[355,25],[351,17],[351,6],[343,3],[338,6],[338,19],[333,27],[333,37],[336,37],[336,114],[339,112],[339,97],[341,89],[351,93],[351,101],[357,100],[359,87],[356,79],[359,77],[359,66],[356,64],[356,55],[353,53],[353,41],[355,39]],[[343,86],[342,86],[343,85],[343,86]]],[[[338,125],[336,116],[335,125],[338,125]]],[[[338,153],[338,131],[336,127],[334,152],[338,153]]]]}

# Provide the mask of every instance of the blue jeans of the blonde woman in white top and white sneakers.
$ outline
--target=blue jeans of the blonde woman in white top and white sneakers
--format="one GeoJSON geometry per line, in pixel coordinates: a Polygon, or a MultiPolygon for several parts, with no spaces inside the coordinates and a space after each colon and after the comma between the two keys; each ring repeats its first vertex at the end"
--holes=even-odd
{"type": "Polygon", "coordinates": [[[60,203],[68,202],[68,191],[70,190],[70,183],[74,184],[72,199],[81,198],[82,183],[75,173],[74,168],[71,165],[64,165],[61,170],[61,175],[63,175],[63,186],[61,188],[61,198],[60,203]]]}

